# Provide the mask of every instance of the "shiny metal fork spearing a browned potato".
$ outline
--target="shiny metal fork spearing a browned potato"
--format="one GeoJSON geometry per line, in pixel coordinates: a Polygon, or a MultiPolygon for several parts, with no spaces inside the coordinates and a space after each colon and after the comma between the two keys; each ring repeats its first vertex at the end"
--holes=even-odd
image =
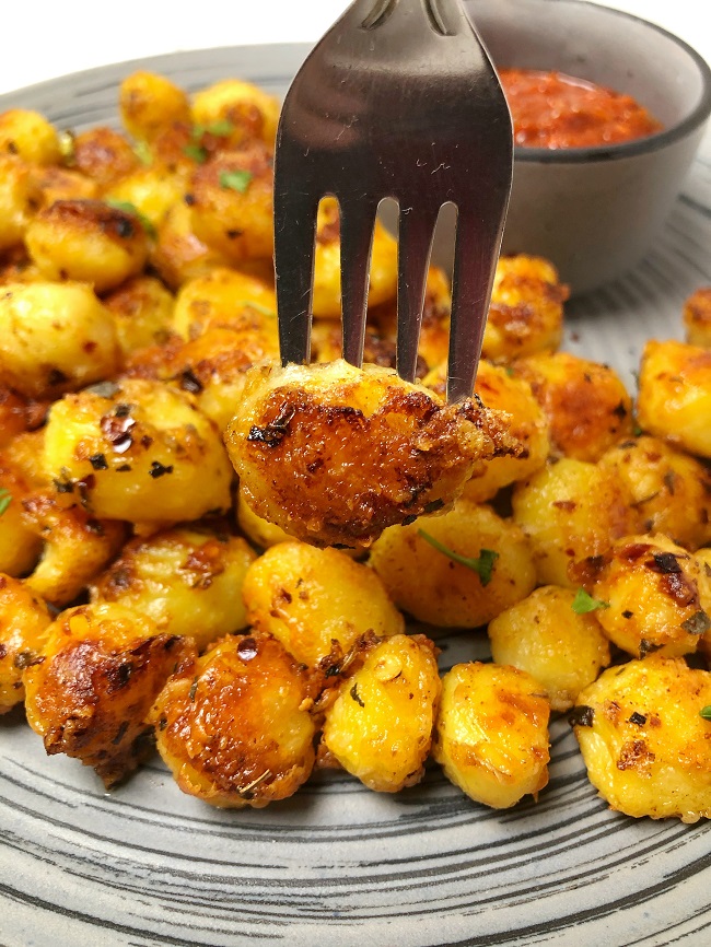
{"type": "Polygon", "coordinates": [[[318,202],[341,215],[343,358],[360,366],[373,225],[399,206],[397,372],[413,381],[440,208],[457,208],[447,401],[471,396],[513,167],[511,116],[461,0],[354,0],[281,112],[275,271],[282,363],[310,358],[318,202]]]}

